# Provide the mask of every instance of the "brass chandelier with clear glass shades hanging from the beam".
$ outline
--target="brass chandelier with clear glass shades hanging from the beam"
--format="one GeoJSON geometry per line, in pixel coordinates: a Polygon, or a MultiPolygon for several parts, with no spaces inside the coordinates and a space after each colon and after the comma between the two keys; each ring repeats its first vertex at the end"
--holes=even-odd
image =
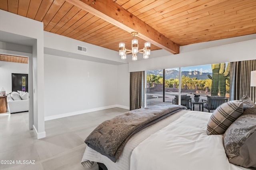
{"type": "Polygon", "coordinates": [[[143,58],[148,59],[150,55],[150,43],[146,42],[145,47],[143,49],[138,49],[138,40],[135,39],[135,36],[138,35],[138,32],[132,32],[133,36],[132,40],[132,50],[128,50],[125,48],[124,43],[119,43],[119,55],[121,59],[126,59],[126,54],[132,53],[132,60],[137,60],[137,53],[143,53],[143,58]]]}

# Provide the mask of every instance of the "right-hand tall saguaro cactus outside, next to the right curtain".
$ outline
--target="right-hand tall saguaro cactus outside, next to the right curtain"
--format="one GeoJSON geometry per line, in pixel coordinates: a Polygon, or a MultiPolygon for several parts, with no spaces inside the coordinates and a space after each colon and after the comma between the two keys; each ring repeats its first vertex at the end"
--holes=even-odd
{"type": "Polygon", "coordinates": [[[229,76],[230,63],[220,63],[220,74],[219,74],[219,90],[220,96],[226,96],[226,79],[229,76]],[[225,70],[226,68],[226,70],[225,70]]]}

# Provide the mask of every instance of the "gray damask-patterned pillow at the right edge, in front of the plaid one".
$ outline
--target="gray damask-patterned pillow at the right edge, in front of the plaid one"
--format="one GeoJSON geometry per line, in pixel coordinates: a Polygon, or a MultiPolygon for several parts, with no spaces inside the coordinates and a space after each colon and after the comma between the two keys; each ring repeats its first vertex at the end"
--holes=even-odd
{"type": "Polygon", "coordinates": [[[256,168],[256,106],[249,107],[224,133],[228,161],[256,168]]]}

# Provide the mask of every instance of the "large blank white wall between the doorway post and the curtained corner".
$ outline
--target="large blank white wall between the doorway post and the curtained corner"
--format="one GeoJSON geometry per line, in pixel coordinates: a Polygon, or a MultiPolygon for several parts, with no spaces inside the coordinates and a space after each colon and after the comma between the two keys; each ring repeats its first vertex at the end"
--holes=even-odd
{"type": "Polygon", "coordinates": [[[117,66],[44,55],[45,120],[115,107],[117,66]]]}

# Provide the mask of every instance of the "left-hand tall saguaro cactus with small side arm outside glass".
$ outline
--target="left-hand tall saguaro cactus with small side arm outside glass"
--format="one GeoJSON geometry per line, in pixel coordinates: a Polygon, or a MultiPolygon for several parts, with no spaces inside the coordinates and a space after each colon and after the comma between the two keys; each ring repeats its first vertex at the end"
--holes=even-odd
{"type": "Polygon", "coordinates": [[[210,79],[212,79],[211,96],[218,96],[219,74],[220,74],[220,63],[212,64],[212,76],[210,74],[207,75],[210,79]]]}

